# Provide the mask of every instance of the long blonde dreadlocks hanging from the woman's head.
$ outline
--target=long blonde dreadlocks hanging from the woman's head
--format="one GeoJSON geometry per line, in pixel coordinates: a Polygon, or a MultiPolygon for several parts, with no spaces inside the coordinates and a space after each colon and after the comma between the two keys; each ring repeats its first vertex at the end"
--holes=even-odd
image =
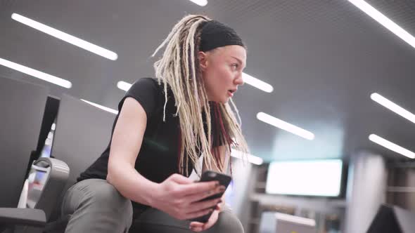
{"type": "MultiPolygon", "coordinates": [[[[208,169],[224,171],[222,158],[217,149],[212,149],[211,116],[208,95],[205,91],[203,79],[201,79],[198,52],[200,45],[200,25],[210,21],[203,15],[187,15],[182,18],[167,36],[165,41],[158,46],[153,56],[166,46],[160,60],[154,63],[155,76],[159,84],[163,84],[165,93],[165,105],[163,121],[165,121],[165,108],[167,105],[167,85],[170,86],[177,107],[176,115],[179,116],[180,135],[179,143],[179,172],[188,174],[188,161],[191,160],[195,170],[199,171],[198,152],[204,153],[204,163],[208,169]],[[203,115],[205,113],[208,135],[203,127],[203,115]],[[185,156],[185,154],[187,156],[185,156]],[[213,163],[212,163],[213,161],[213,163]]],[[[238,110],[234,102],[231,104],[236,110],[239,122],[238,110]]],[[[238,149],[243,154],[248,153],[248,145],[241,132],[241,125],[236,121],[234,112],[228,103],[215,103],[215,115],[219,118],[220,131],[217,131],[221,142],[226,145],[226,155],[230,156],[231,147],[238,149]]],[[[231,159],[229,159],[229,162],[231,159]]],[[[200,169],[201,170],[201,169],[200,169]]],[[[199,174],[200,175],[200,174],[199,174]]]]}

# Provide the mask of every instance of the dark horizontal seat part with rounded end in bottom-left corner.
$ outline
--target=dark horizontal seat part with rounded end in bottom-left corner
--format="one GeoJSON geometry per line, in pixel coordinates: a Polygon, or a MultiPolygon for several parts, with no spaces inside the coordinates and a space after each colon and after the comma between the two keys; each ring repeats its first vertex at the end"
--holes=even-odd
{"type": "Polygon", "coordinates": [[[0,225],[44,227],[46,215],[35,208],[0,208],[0,225]]]}

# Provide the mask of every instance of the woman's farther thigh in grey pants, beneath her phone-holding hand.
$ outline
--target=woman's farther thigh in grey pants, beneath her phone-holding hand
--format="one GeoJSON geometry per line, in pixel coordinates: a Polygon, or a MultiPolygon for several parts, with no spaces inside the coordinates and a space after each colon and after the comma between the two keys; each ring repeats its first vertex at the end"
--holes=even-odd
{"type": "MultiPolygon", "coordinates": [[[[182,233],[192,232],[189,229],[190,221],[177,220],[167,213],[158,211],[155,208],[148,208],[134,219],[129,233],[182,233]]],[[[225,208],[219,213],[216,224],[205,232],[226,232],[226,233],[243,233],[243,227],[236,215],[230,208],[225,208]]]]}

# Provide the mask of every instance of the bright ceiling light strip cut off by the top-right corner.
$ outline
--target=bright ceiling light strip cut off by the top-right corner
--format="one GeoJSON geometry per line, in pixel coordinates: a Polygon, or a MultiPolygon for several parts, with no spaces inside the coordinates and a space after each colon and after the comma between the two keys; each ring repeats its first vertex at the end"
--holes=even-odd
{"type": "Polygon", "coordinates": [[[383,15],[381,12],[373,8],[373,6],[366,3],[366,1],[363,0],[349,0],[353,5],[357,6],[360,10],[362,10],[364,13],[368,14],[373,20],[378,21],[383,27],[386,27],[390,30],[393,34],[400,37],[400,39],[403,39],[405,42],[410,44],[412,47],[415,48],[415,38],[411,34],[409,34],[407,31],[402,29],[399,25],[397,25],[395,22],[390,20],[388,17],[383,15]]]}

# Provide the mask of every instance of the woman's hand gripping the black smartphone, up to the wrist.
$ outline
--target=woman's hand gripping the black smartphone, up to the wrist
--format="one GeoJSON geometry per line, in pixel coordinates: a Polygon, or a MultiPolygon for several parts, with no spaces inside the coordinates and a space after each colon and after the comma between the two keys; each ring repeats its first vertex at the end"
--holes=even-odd
{"type": "Polygon", "coordinates": [[[183,175],[170,175],[158,184],[151,199],[151,206],[163,211],[173,218],[189,220],[206,215],[215,210],[221,198],[200,201],[214,194],[225,192],[225,187],[217,181],[194,182],[183,175]]]}

